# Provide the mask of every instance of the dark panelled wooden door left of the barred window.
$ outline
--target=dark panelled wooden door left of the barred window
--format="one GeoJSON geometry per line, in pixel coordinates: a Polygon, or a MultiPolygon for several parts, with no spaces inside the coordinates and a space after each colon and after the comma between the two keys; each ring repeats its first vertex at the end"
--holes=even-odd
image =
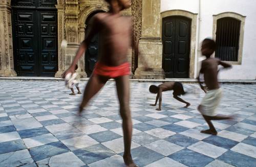
{"type": "Polygon", "coordinates": [[[163,18],[162,67],[166,78],[188,78],[191,20],[182,16],[163,18]]]}

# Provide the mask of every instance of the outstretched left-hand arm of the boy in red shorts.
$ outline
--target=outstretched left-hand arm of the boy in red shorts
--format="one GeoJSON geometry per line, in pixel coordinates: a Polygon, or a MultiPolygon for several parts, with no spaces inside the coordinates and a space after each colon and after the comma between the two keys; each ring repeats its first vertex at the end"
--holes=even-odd
{"type": "Polygon", "coordinates": [[[70,65],[70,67],[62,74],[62,77],[65,78],[65,76],[69,73],[75,73],[75,66],[77,64],[77,62],[79,61],[79,59],[82,57],[83,53],[86,52],[87,50],[87,46],[90,43],[91,39],[94,37],[94,35],[99,31],[99,21],[97,18],[97,15],[95,15],[94,17],[92,17],[92,29],[89,30],[88,36],[86,37],[86,39],[84,39],[80,46],[79,49],[76,53],[76,56],[72,62],[72,64],[70,65]]]}

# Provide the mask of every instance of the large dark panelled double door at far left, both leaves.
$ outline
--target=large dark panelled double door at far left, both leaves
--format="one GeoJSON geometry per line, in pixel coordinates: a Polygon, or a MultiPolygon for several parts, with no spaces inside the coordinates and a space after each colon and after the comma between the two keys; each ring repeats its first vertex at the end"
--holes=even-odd
{"type": "Polygon", "coordinates": [[[18,76],[54,76],[58,69],[56,0],[12,1],[18,76]]]}

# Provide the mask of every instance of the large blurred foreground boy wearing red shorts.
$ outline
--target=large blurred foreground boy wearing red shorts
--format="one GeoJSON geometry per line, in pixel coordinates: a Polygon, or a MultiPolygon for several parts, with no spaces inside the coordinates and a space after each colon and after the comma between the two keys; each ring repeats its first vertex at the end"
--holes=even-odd
{"type": "Polygon", "coordinates": [[[86,51],[89,42],[96,34],[100,34],[99,59],[88,81],[80,104],[79,114],[87,106],[91,98],[111,78],[116,81],[117,95],[120,103],[120,115],[123,120],[124,154],[126,166],[137,166],[131,156],[132,119],[130,111],[130,64],[127,62],[127,51],[133,45],[132,18],[121,16],[120,11],[131,6],[131,0],[105,0],[111,6],[109,12],[98,13],[92,18],[92,29],[80,44],[78,52],[70,68],[65,71],[74,73],[75,64],[86,51]]]}

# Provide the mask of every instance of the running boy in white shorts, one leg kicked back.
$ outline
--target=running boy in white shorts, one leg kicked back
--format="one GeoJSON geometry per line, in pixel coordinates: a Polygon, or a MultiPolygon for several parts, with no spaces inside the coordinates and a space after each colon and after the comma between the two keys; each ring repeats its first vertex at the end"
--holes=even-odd
{"type": "Polygon", "coordinates": [[[216,43],[214,40],[207,38],[203,40],[201,52],[206,59],[202,61],[200,74],[204,75],[204,82],[207,90],[206,87],[202,85],[202,82],[198,77],[200,87],[206,93],[201,104],[198,106],[198,110],[201,112],[205,121],[209,125],[209,129],[202,130],[201,133],[208,133],[212,135],[217,135],[217,131],[214,125],[212,125],[211,120],[226,120],[231,118],[228,116],[217,115],[216,112],[216,108],[220,104],[222,97],[222,90],[218,82],[218,72],[222,68],[218,70],[218,65],[222,65],[223,68],[231,68],[231,65],[219,59],[211,58],[210,56],[215,52],[215,50],[216,43]]]}

